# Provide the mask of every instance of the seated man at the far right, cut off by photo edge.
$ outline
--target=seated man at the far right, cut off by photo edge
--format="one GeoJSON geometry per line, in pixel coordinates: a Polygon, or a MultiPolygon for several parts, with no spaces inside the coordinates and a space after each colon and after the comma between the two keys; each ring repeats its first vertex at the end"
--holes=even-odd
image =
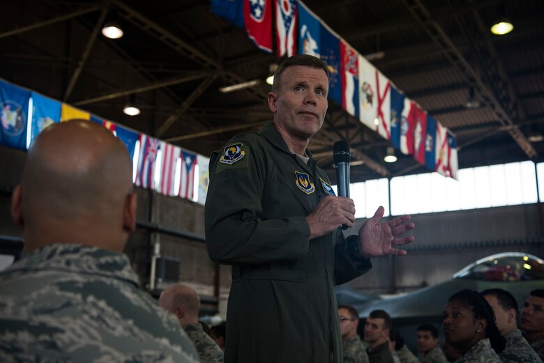
{"type": "Polygon", "coordinates": [[[525,300],[520,327],[524,337],[544,360],[544,289],[536,288],[525,300]]]}

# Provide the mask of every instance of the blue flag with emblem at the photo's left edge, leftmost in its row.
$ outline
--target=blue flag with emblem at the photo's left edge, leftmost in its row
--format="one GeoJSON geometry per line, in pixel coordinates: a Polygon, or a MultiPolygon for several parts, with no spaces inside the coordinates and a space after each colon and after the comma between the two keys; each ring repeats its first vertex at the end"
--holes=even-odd
{"type": "Polygon", "coordinates": [[[0,80],[0,145],[27,150],[30,91],[0,80]]]}

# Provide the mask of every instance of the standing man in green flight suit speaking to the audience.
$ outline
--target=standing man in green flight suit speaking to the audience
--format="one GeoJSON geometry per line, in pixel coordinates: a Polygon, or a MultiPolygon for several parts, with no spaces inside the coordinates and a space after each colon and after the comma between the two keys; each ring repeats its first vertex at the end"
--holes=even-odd
{"type": "Polygon", "coordinates": [[[335,284],[406,252],[409,216],[379,224],[384,208],[354,225],[352,199],[334,196],[307,149],[327,109],[328,70],[296,55],[275,71],[273,122],[211,155],[205,208],[213,261],[232,265],[225,362],[342,362],[335,284]]]}

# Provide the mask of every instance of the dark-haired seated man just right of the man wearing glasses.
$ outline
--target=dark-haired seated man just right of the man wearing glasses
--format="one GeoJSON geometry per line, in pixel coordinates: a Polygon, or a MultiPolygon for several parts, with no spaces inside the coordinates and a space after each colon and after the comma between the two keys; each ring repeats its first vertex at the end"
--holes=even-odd
{"type": "Polygon", "coordinates": [[[391,316],[384,310],[374,310],[365,322],[365,341],[368,342],[366,353],[370,363],[394,363],[389,350],[389,330],[391,316]]]}

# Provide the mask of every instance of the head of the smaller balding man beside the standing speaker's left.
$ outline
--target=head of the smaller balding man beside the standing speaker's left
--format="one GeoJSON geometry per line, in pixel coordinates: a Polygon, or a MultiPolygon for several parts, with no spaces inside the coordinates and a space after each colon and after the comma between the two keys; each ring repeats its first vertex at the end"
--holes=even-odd
{"type": "Polygon", "coordinates": [[[174,314],[183,327],[198,323],[200,299],[189,286],[176,285],[167,288],[160,294],[159,305],[174,314]]]}

